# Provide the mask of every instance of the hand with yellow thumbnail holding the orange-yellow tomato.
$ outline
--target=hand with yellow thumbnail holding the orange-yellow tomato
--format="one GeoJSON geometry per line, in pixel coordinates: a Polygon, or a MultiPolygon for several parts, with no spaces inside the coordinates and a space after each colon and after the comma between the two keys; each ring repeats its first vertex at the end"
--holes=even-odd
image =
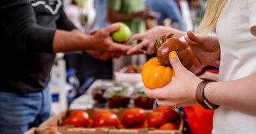
{"type": "Polygon", "coordinates": [[[181,64],[176,52],[171,52],[169,60],[175,71],[173,80],[163,88],[154,90],[144,88],[144,92],[149,97],[156,99],[160,106],[185,107],[197,105],[196,88],[202,80],[181,64]]]}

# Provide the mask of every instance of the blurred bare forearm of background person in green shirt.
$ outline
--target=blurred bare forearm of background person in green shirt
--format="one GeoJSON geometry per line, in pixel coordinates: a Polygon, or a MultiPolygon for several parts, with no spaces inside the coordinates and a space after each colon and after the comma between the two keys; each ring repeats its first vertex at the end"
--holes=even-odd
{"type": "Polygon", "coordinates": [[[125,22],[127,20],[132,20],[133,18],[140,17],[140,12],[131,13],[131,14],[123,14],[116,12],[115,10],[108,9],[108,22],[125,22]]]}

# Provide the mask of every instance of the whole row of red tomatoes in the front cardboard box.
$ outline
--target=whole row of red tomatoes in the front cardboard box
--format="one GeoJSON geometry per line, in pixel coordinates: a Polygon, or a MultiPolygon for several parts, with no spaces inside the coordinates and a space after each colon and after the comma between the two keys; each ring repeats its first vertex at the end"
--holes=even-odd
{"type": "Polygon", "coordinates": [[[154,127],[155,129],[173,130],[178,129],[179,114],[169,107],[158,107],[148,115],[143,109],[128,109],[123,113],[121,121],[110,110],[99,110],[92,119],[85,111],[72,113],[62,123],[62,126],[73,125],[74,127],[116,127],[116,129],[139,129],[154,127]]]}

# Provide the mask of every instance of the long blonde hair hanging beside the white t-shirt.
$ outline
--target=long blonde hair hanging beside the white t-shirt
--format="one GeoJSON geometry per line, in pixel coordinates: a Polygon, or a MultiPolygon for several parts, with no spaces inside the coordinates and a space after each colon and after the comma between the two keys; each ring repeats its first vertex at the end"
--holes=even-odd
{"type": "Polygon", "coordinates": [[[218,18],[227,1],[228,0],[207,0],[203,20],[198,29],[196,29],[196,33],[207,34],[216,28],[218,18]]]}

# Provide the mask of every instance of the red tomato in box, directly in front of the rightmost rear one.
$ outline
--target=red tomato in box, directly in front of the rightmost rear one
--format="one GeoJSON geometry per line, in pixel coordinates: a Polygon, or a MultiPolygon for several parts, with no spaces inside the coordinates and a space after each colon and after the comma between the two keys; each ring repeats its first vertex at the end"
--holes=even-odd
{"type": "Polygon", "coordinates": [[[152,112],[148,116],[148,127],[160,127],[167,123],[167,116],[163,112],[152,112]]]}

